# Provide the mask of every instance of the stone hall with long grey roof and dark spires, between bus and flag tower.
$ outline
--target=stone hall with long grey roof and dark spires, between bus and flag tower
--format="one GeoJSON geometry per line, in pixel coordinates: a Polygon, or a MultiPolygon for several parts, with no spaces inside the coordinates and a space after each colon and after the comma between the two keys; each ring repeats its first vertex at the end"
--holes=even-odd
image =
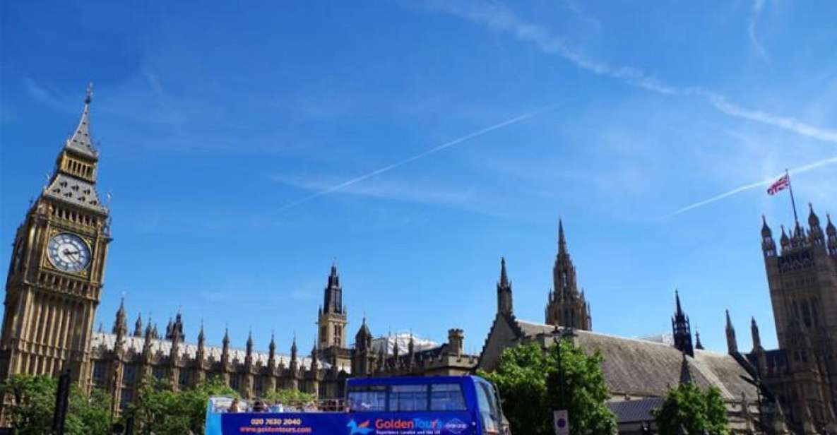
{"type": "Polygon", "coordinates": [[[501,259],[497,313],[480,353],[480,369],[495,369],[508,347],[533,342],[546,347],[563,337],[588,351],[602,352],[602,371],[612,396],[609,405],[617,415],[619,432],[640,433],[643,425],[654,430],[650,410],[659,407],[660,398],[671,386],[693,381],[721,391],[733,432],[787,433],[781,407],[771,402],[768,388],[759,391],[757,374],[744,359],[704,350],[699,335],[693,344],[680,294],[675,292],[675,313],[671,317],[673,345],[591,331],[589,305],[583,292],[578,292],[562,223],[558,228],[558,254],[552,274],[555,287],[549,295],[546,323],[516,317],[506,260],[501,259]]]}

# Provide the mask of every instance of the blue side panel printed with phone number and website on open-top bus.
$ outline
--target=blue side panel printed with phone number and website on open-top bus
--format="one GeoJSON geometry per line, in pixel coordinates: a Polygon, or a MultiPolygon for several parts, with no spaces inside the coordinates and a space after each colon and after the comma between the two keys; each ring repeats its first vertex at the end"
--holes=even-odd
{"type": "MultiPolygon", "coordinates": [[[[282,413],[227,413],[221,414],[223,435],[241,433],[306,433],[336,435],[350,433],[345,412],[282,412],[282,413]]],[[[367,435],[370,432],[351,432],[367,435]]]]}

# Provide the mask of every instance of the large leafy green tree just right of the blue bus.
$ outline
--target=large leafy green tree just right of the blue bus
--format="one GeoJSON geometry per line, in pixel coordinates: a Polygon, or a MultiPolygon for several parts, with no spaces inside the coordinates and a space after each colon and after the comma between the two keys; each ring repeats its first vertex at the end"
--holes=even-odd
{"type": "Polygon", "coordinates": [[[511,432],[552,435],[552,411],[566,409],[570,433],[610,434],[616,419],[601,369],[603,357],[588,355],[570,340],[547,351],[537,343],[503,351],[496,371],[480,372],[500,390],[511,432]],[[561,386],[563,385],[563,394],[561,386]]]}

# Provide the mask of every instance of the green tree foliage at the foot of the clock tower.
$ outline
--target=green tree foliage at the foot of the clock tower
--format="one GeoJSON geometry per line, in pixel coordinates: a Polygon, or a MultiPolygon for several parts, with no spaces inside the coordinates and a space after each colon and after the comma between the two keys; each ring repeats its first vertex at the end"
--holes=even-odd
{"type": "MultiPolygon", "coordinates": [[[[0,395],[11,401],[6,407],[19,435],[43,435],[52,430],[58,380],[52,376],[13,375],[0,384],[0,395]]],[[[106,435],[110,427],[110,397],[94,390],[90,395],[72,386],[65,432],[72,435],[106,435]]]]}

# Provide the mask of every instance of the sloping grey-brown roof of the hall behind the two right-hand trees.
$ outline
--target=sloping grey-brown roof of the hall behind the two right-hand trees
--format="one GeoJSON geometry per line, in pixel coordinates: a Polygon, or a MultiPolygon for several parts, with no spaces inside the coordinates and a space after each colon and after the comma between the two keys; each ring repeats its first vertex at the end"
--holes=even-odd
{"type": "MultiPolygon", "coordinates": [[[[551,335],[553,325],[516,320],[517,327],[527,336],[551,335]]],[[[614,395],[663,397],[670,387],[680,383],[683,354],[670,345],[648,340],[604,335],[587,330],[575,330],[573,340],[588,351],[602,352],[602,371],[608,388],[614,395]]],[[[740,400],[742,393],[755,400],[756,386],[745,381],[747,371],[729,355],[711,351],[695,351],[686,356],[689,372],[698,386],[717,386],[727,400],[740,400]]]]}

